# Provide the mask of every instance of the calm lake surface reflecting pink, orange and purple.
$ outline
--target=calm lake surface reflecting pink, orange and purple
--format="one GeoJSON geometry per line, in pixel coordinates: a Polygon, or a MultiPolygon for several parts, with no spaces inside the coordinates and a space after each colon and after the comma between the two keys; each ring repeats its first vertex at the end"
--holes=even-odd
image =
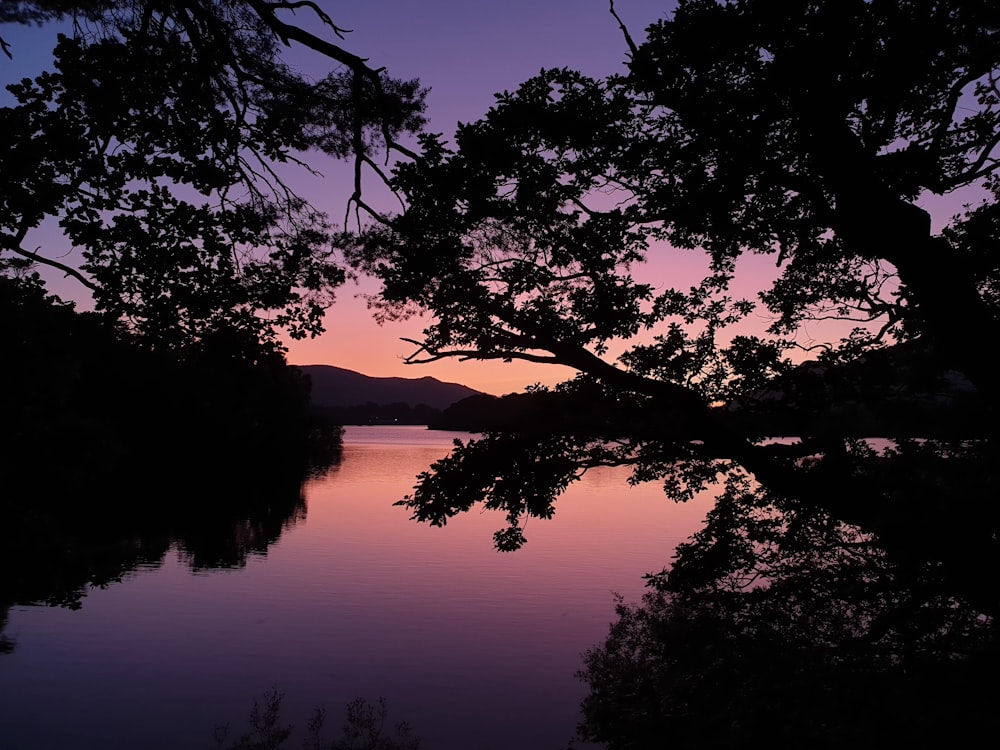
{"type": "Polygon", "coordinates": [[[586,692],[580,655],[606,636],[613,592],[638,599],[708,501],[676,505],[628,487],[626,470],[594,470],[554,519],[528,522],[522,550],[499,553],[498,514],[433,528],[393,506],[456,437],[349,427],[305,512],[245,565],[199,569],[173,545],[78,610],[13,607],[0,747],[209,748],[213,727],[238,735],[272,687],[296,727],[324,706],[327,739],[360,696],[384,697],[425,750],[564,747],[586,692]]]}

